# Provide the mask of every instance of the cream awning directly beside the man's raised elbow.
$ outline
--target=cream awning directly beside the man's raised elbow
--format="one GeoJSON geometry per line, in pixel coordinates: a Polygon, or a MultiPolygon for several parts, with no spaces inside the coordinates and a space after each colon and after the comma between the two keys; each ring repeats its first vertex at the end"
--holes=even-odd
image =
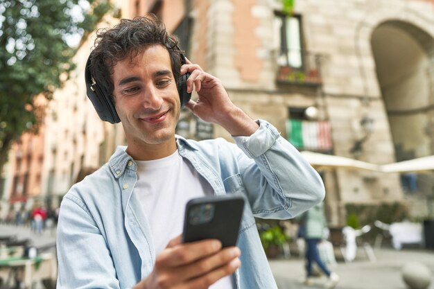
{"type": "Polygon", "coordinates": [[[365,161],[358,161],[349,157],[338,155],[325,155],[318,152],[302,151],[303,157],[309,161],[314,168],[349,168],[363,170],[380,170],[379,165],[370,164],[365,161]]]}

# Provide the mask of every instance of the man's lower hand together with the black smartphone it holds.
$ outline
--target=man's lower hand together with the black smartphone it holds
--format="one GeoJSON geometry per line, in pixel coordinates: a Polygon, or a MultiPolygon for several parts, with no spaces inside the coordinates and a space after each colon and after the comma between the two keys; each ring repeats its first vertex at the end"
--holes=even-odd
{"type": "Polygon", "coordinates": [[[202,289],[240,267],[235,247],[244,199],[236,195],[196,198],[186,205],[184,233],[155,260],[134,289],[202,289]]]}

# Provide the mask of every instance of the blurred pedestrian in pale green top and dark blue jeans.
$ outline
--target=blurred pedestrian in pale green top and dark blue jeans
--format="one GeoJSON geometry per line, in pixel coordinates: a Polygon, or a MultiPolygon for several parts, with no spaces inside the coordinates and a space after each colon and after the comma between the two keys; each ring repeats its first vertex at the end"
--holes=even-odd
{"type": "Polygon", "coordinates": [[[334,288],[339,281],[339,276],[335,272],[331,272],[327,265],[320,259],[318,252],[318,243],[324,237],[324,229],[327,229],[327,221],[324,213],[324,202],[316,204],[297,217],[302,227],[302,234],[304,234],[304,240],[306,240],[306,279],[305,283],[311,285],[313,283],[313,263],[316,263],[320,270],[328,277],[326,283],[327,288],[334,288]]]}

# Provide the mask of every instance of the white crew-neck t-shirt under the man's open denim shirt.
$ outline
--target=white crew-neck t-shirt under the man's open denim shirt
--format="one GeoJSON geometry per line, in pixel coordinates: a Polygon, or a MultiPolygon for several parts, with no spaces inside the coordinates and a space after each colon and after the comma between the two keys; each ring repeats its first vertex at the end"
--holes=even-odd
{"type": "MultiPolygon", "coordinates": [[[[137,195],[150,225],[155,254],[182,234],[186,203],[211,195],[213,189],[178,151],[168,157],[137,162],[137,195]]],[[[209,289],[233,289],[232,277],[214,283],[209,289]]]]}

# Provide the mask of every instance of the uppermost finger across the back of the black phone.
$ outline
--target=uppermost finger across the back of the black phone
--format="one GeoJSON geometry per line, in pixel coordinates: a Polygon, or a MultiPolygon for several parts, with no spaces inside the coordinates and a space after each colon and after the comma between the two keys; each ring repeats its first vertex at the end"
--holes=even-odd
{"type": "Polygon", "coordinates": [[[215,254],[222,247],[219,240],[201,240],[198,242],[175,245],[164,249],[155,260],[155,267],[176,267],[193,263],[199,259],[215,254]]]}

